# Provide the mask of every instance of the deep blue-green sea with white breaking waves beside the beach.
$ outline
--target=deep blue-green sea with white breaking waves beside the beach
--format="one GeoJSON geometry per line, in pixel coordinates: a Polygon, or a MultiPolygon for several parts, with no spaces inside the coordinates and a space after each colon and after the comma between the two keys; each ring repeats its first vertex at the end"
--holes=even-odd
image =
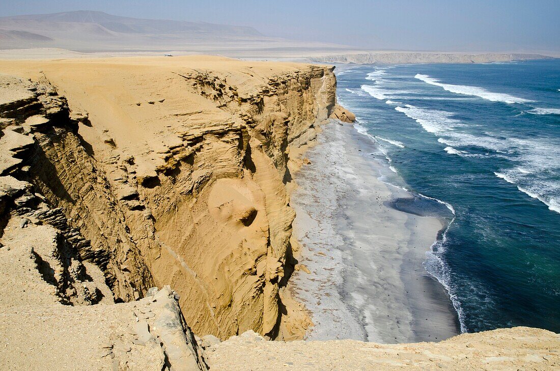
{"type": "Polygon", "coordinates": [[[336,72],[405,187],[454,210],[425,266],[461,331],[560,332],[560,60],[336,72]]]}

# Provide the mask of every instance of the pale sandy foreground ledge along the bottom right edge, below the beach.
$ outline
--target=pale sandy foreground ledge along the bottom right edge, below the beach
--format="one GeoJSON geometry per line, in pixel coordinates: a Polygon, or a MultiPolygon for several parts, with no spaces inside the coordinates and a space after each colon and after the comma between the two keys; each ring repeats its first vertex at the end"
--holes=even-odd
{"type": "Polygon", "coordinates": [[[247,332],[206,353],[212,371],[557,370],[553,332],[515,327],[441,342],[263,341],[247,332]]]}

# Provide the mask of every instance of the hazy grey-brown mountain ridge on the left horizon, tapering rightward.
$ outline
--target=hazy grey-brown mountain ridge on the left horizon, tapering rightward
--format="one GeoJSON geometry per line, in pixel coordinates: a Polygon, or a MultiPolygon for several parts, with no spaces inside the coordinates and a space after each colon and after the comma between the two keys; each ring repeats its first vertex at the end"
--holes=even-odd
{"type": "Polygon", "coordinates": [[[148,20],[76,11],[0,17],[0,49],[165,50],[278,40],[252,27],[148,20]]]}

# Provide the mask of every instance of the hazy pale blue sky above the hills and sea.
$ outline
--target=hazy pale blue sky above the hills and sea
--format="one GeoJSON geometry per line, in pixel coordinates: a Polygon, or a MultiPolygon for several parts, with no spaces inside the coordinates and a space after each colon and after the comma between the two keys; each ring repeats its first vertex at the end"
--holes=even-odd
{"type": "Polygon", "coordinates": [[[253,26],[371,49],[560,50],[560,0],[0,0],[0,16],[73,10],[253,26]]]}

